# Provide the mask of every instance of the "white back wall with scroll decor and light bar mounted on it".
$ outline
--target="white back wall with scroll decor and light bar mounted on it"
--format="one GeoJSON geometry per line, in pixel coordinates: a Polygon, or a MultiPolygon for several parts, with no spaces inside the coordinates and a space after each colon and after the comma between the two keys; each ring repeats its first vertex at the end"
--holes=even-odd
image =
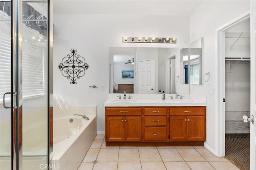
{"type": "Polygon", "coordinates": [[[110,47],[189,45],[188,16],[54,14],[54,25],[54,104],[96,105],[98,131],[105,130],[104,102],[109,93],[110,47]],[[122,43],[124,36],[177,37],[177,43],[122,43]],[[77,54],[83,56],[89,65],[76,85],[71,85],[58,69],[62,58],[70,54],[70,49],[77,49],[77,54]],[[105,91],[88,88],[92,85],[104,85],[105,91]]]}

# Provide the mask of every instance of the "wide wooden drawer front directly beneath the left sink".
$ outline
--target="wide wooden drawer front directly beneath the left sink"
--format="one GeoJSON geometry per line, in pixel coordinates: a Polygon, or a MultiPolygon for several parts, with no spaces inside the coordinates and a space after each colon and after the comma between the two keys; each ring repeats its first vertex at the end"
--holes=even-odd
{"type": "Polygon", "coordinates": [[[106,115],[141,115],[141,107],[106,107],[106,115]]]}

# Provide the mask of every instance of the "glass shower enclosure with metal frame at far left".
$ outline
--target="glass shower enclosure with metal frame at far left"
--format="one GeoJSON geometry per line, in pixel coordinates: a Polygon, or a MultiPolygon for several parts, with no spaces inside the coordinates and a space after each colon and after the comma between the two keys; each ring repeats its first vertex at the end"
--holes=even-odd
{"type": "Polygon", "coordinates": [[[50,1],[0,1],[1,170],[51,169],[50,1]]]}

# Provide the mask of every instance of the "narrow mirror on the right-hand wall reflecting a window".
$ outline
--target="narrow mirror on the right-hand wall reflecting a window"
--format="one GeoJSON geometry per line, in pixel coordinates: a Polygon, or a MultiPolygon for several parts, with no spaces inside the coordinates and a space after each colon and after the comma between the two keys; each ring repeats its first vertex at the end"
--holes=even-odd
{"type": "Polygon", "coordinates": [[[202,40],[198,40],[190,43],[190,62],[189,62],[189,83],[190,84],[202,84],[202,40]]]}

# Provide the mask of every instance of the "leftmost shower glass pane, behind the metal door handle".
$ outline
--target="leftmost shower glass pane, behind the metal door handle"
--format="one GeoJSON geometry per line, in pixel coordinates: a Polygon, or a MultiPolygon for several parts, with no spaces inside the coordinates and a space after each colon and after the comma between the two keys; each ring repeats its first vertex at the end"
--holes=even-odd
{"type": "MultiPolygon", "coordinates": [[[[0,169],[12,168],[12,106],[11,106],[11,12],[3,9],[10,1],[0,1],[0,169]],[[5,95],[5,105],[3,96],[5,95]],[[4,106],[6,108],[4,108],[4,106]],[[9,108],[8,108],[9,107],[9,108]]],[[[10,9],[11,10],[11,9],[10,9]]]]}

